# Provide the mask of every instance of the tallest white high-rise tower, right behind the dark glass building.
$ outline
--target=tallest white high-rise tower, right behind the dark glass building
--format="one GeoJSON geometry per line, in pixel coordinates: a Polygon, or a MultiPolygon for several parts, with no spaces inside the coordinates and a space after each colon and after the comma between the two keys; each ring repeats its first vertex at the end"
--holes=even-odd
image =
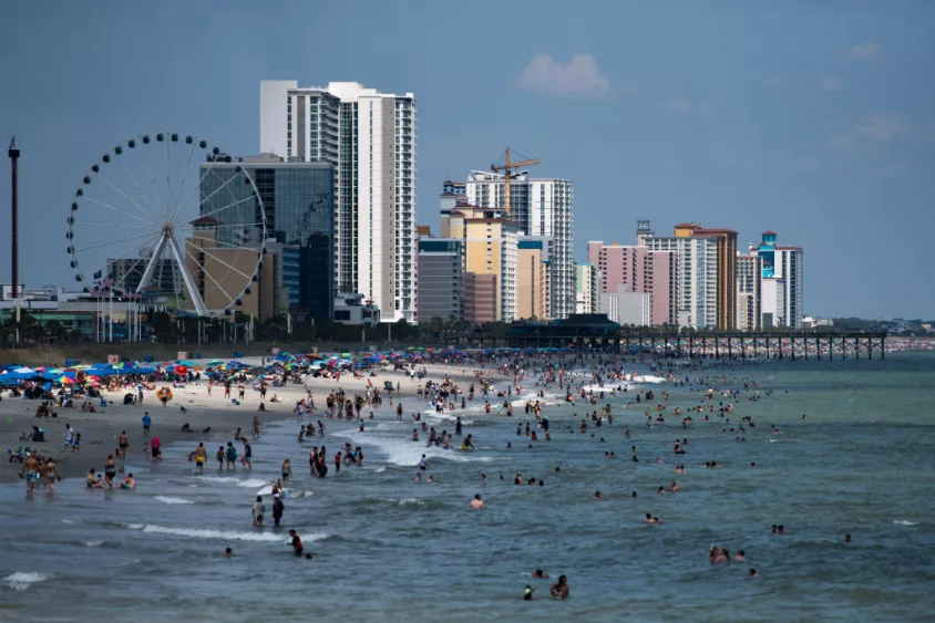
{"type": "Polygon", "coordinates": [[[335,167],[335,284],[418,321],[415,96],[356,82],[260,82],[260,152],[335,167]]]}

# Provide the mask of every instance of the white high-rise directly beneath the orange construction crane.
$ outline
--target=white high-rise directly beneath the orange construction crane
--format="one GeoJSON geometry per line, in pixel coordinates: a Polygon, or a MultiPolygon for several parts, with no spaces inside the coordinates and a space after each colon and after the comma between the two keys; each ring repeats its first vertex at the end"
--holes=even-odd
{"type": "MultiPolygon", "coordinates": [[[[481,208],[504,208],[503,174],[472,170],[468,177],[468,201],[481,208]]],[[[511,177],[511,219],[526,236],[553,239],[549,277],[552,318],[575,312],[575,193],[568,179],[531,178],[526,172],[511,177]]]]}

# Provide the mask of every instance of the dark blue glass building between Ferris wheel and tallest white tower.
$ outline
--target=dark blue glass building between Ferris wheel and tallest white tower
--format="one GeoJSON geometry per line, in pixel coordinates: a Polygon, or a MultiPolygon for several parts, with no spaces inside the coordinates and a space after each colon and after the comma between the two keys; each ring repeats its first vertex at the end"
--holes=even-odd
{"type": "Polygon", "coordinates": [[[288,163],[270,154],[203,164],[201,214],[215,221],[216,246],[232,250],[246,241],[263,242],[251,240],[260,222],[251,188],[230,184],[240,176],[238,167],[256,184],[266,215],[267,239],[284,246],[282,282],[288,288],[284,300],[289,313],[331,318],[333,167],[318,162],[288,163]],[[227,222],[209,216],[218,212],[227,222]]]}

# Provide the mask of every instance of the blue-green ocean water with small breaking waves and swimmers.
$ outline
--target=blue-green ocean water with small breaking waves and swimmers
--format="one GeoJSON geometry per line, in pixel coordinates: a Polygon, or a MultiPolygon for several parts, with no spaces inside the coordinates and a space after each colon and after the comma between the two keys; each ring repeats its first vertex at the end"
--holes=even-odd
{"type": "MultiPolygon", "coordinates": [[[[165,448],[158,465],[131,458],[135,492],[71,479],[53,498],[38,490],[27,501],[23,485],[0,487],[0,620],[127,610],[148,621],[932,620],[935,353],[677,374],[722,375],[720,392],[741,394],[716,392],[710,422],[691,414],[687,429],[672,411],[701,394],[669,382],[629,384],[596,406],[549,404],[552,440],[540,430],[532,448],[516,435],[531,419],[522,405],[507,418],[484,415],[475,401],[464,426],[470,454],[427,449],[421,430],[423,442],[411,442],[408,416],[367,420],[362,434],[323,419],[329,456],[350,442],[366,457],[339,474],[329,459],[325,479],[308,475],[308,449],[320,439],[299,447],[297,424],[281,422],[254,444],[251,473],[218,474],[209,461],[204,476],[193,474],[191,444],[165,448]],[[744,392],[743,377],[759,384],[759,401],[748,401],[754,391],[744,392]],[[647,427],[643,406],[624,408],[637,388],[656,393],[654,407],[669,394],[665,423],[647,427]],[[718,402],[736,403],[730,424],[718,402]],[[580,416],[603,404],[614,424],[588,422],[582,434],[580,416]],[[756,427],[741,433],[743,416],[756,427]],[[687,454],[675,456],[671,443],[682,438],[687,454]],[[434,484],[413,480],[423,453],[434,484]],[[254,529],[250,506],[266,494],[269,508],[286,457],[295,479],[284,527],[254,529]],[[710,460],[723,467],[706,468],[710,460]],[[677,464],[688,473],[675,474],[677,464]],[[513,485],[517,470],[545,485],[513,485]],[[656,492],[671,480],[680,491],[656,492]],[[603,501],[592,499],[596,490],[603,501]],[[475,494],[485,510],[468,508],[475,494]],[[644,523],[647,512],[664,523],[644,523]],[[771,534],[774,523],[787,534],[771,534]],[[290,554],[290,528],[312,560],[290,554]],[[841,542],[845,533],[853,543],[841,542]],[[744,550],[747,562],[711,565],[712,543],[731,557],[744,550]],[[532,580],[537,568],[553,580],[532,580]],[[559,574],[571,598],[556,602],[548,586],[559,574]],[[536,589],[531,602],[526,584],[536,589]]],[[[452,418],[425,416],[453,432],[452,418]]],[[[206,446],[226,444],[217,437],[206,446]]]]}

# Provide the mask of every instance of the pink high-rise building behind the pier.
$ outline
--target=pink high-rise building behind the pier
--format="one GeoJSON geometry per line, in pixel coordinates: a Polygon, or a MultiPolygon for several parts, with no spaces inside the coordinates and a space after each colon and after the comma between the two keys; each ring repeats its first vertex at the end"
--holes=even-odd
{"type": "Polygon", "coordinates": [[[620,284],[630,292],[649,292],[653,324],[678,324],[678,253],[592,240],[587,243],[587,261],[600,270],[603,293],[615,293],[620,284]]]}

